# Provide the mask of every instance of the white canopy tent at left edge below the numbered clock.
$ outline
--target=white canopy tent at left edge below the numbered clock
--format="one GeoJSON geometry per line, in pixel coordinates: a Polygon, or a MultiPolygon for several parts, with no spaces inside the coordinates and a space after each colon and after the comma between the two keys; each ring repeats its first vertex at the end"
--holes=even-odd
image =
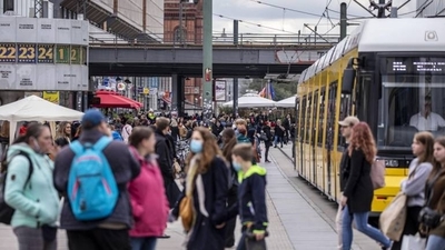
{"type": "Polygon", "coordinates": [[[0,107],[0,120],[10,122],[9,142],[16,138],[17,122],[20,121],[76,121],[83,113],[55,104],[37,96],[30,96],[0,107]]]}

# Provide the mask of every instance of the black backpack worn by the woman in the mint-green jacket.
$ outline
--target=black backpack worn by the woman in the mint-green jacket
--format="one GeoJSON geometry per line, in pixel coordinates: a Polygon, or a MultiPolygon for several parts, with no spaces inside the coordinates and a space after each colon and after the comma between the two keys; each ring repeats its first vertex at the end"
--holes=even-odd
{"type": "MultiPolygon", "coordinates": [[[[14,158],[17,156],[23,156],[28,159],[29,161],[29,173],[27,177],[27,180],[24,181],[24,186],[23,188],[28,184],[29,180],[31,179],[32,176],[32,171],[33,171],[33,167],[32,167],[32,161],[29,158],[29,154],[23,152],[23,151],[19,151],[17,154],[13,154],[11,157],[14,158]]],[[[2,162],[2,169],[0,172],[0,223],[4,223],[4,224],[11,224],[11,219],[12,216],[16,211],[16,209],[11,208],[9,204],[7,204],[7,202],[4,201],[4,189],[7,186],[7,178],[8,178],[8,163],[11,159],[4,160],[2,162]]]]}

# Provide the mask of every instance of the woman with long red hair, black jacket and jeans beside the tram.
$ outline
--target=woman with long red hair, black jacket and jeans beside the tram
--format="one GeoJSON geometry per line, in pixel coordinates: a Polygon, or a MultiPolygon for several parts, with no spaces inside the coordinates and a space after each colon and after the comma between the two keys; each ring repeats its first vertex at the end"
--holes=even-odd
{"type": "Polygon", "coordinates": [[[353,220],[358,231],[390,248],[390,240],[379,230],[368,224],[370,204],[374,197],[374,187],[370,180],[370,168],[377,153],[376,144],[369,126],[358,122],[353,127],[348,157],[350,163],[343,172],[345,189],[340,204],[343,206],[343,250],[350,250],[353,243],[353,220]]]}

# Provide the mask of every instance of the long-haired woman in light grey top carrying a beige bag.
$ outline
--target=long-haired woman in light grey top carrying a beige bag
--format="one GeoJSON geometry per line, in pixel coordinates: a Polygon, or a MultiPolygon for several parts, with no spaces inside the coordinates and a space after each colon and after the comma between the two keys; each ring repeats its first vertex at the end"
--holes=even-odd
{"type": "MultiPolygon", "coordinates": [[[[403,236],[415,236],[418,232],[418,213],[425,204],[425,183],[433,170],[433,146],[431,132],[418,132],[414,136],[412,150],[416,158],[409,164],[408,178],[402,182],[402,192],[408,198],[403,236]]],[[[393,243],[392,250],[402,248],[403,236],[393,243]]]]}

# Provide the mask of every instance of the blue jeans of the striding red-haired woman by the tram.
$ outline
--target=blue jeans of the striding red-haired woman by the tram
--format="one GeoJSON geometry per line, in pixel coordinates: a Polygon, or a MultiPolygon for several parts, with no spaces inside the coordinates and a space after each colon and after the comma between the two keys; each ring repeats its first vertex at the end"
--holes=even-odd
{"type": "Polygon", "coordinates": [[[355,221],[355,226],[359,232],[379,242],[386,248],[390,247],[390,240],[379,230],[368,224],[368,214],[369,212],[356,212],[349,214],[347,206],[343,209],[343,250],[350,250],[350,246],[353,244],[353,220],[355,221]]]}

